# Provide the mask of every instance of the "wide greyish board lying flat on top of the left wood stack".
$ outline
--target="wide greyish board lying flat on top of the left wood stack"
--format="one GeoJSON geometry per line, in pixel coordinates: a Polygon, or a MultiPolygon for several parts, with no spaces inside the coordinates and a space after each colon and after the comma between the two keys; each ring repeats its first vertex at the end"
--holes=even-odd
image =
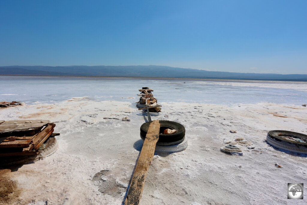
{"type": "Polygon", "coordinates": [[[43,127],[49,120],[10,120],[0,124],[0,133],[26,131],[43,127]]]}

